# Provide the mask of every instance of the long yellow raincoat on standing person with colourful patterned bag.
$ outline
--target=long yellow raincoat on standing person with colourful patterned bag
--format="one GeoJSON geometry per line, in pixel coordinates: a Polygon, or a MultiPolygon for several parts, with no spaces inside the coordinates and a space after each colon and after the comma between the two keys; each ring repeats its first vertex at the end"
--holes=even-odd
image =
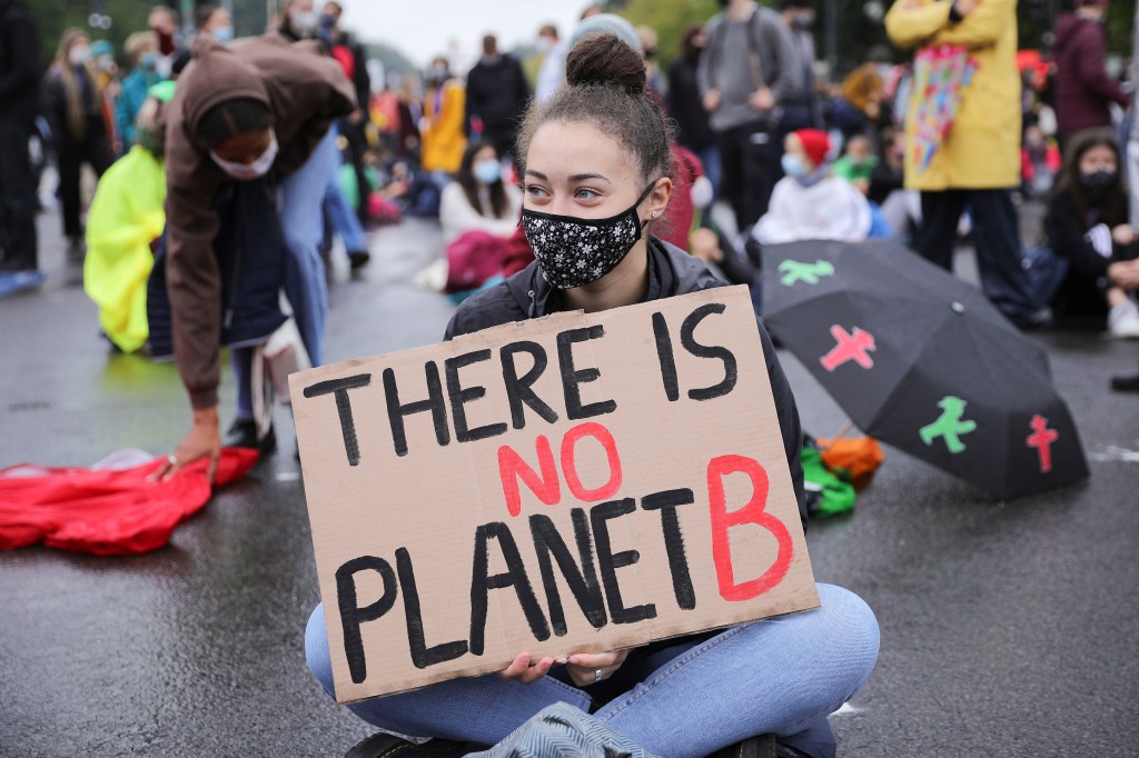
{"type": "MultiPolygon", "coordinates": [[[[906,150],[906,187],[917,190],[1001,189],[1021,180],[1021,77],[1016,69],[1016,0],[980,0],[960,23],[949,0],[898,0],[886,33],[902,48],[964,44],[977,61],[953,127],[925,171],[906,150]]],[[[910,98],[906,139],[915,139],[919,93],[910,98]]]]}

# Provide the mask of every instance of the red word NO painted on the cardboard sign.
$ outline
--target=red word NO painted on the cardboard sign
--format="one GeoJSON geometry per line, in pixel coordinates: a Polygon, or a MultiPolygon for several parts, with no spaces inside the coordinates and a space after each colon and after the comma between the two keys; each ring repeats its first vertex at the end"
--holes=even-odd
{"type": "MultiPolygon", "coordinates": [[[[522,460],[522,456],[513,447],[508,445],[499,447],[499,477],[502,480],[506,509],[510,516],[518,516],[522,512],[519,479],[538,496],[538,500],[547,505],[557,505],[562,502],[562,480],[558,478],[558,470],[554,464],[550,440],[544,435],[539,435],[534,442],[534,450],[538,453],[538,471],[534,471],[526,461],[522,460]]],[[[600,423],[580,423],[570,429],[562,438],[560,459],[566,486],[580,502],[593,503],[605,500],[612,497],[621,488],[621,458],[617,455],[617,443],[613,439],[609,430],[600,423]],[[608,481],[595,489],[587,488],[577,473],[577,442],[582,437],[592,437],[599,442],[609,464],[608,481]]]]}

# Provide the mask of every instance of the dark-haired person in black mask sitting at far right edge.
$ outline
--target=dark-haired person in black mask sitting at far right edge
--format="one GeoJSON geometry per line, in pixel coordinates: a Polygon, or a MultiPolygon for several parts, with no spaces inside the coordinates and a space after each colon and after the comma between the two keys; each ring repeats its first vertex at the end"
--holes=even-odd
{"type": "MultiPolygon", "coordinates": [[[[1071,263],[1052,304],[1063,319],[1107,314],[1114,337],[1139,337],[1139,234],[1128,221],[1120,148],[1091,135],[1070,149],[1044,219],[1048,245],[1071,263]]],[[[1100,321],[1101,323],[1101,321],[1100,321]]]]}

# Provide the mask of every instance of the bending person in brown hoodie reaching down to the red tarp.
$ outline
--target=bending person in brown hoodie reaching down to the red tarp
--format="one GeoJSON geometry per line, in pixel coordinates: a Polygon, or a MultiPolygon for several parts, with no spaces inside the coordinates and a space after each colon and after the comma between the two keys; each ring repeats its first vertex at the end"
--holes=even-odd
{"type": "MultiPolygon", "coordinates": [[[[192,53],[179,77],[166,131],[166,279],[174,354],[194,407],[194,426],[157,476],[170,476],[202,458],[216,463],[219,335],[230,326],[229,306],[247,300],[249,287],[263,286],[268,293],[259,294],[270,300],[278,279],[284,279],[309,357],[314,365],[323,362],[327,291],[320,209],[339,165],[329,126],[355,108],[351,83],[314,43],[294,44],[269,34],[222,46],[200,35],[192,53]],[[268,195],[269,181],[280,191],[279,204],[268,195]],[[233,212],[243,197],[255,207],[279,208],[279,226],[260,222],[267,228],[244,229],[243,214],[233,212]],[[223,229],[223,216],[229,229],[223,229]],[[219,240],[222,231],[227,237],[219,240]],[[263,249],[276,238],[281,239],[280,252],[270,254],[285,259],[269,261],[260,282],[249,277],[232,281],[237,278],[222,269],[215,253],[222,244],[230,249],[220,253],[239,259],[249,250],[238,240],[263,249]],[[274,265],[284,269],[284,277],[270,272],[274,265]],[[223,283],[232,290],[227,303],[223,283]]],[[[267,336],[243,335],[235,345],[248,346],[267,336]]],[[[235,351],[239,388],[248,385],[251,359],[248,351],[235,351]]],[[[257,432],[248,398],[240,394],[230,431],[229,445],[272,447],[271,435],[257,432]]]]}

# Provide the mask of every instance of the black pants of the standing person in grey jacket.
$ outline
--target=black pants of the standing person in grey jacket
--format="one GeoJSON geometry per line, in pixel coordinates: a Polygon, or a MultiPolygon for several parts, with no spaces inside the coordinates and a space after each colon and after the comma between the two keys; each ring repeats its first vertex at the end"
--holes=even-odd
{"type": "Polygon", "coordinates": [[[773,171],[779,149],[776,135],[763,122],[753,122],[716,134],[720,143],[720,195],[731,204],[739,231],[768,212],[771,190],[779,176],[773,171]]]}

